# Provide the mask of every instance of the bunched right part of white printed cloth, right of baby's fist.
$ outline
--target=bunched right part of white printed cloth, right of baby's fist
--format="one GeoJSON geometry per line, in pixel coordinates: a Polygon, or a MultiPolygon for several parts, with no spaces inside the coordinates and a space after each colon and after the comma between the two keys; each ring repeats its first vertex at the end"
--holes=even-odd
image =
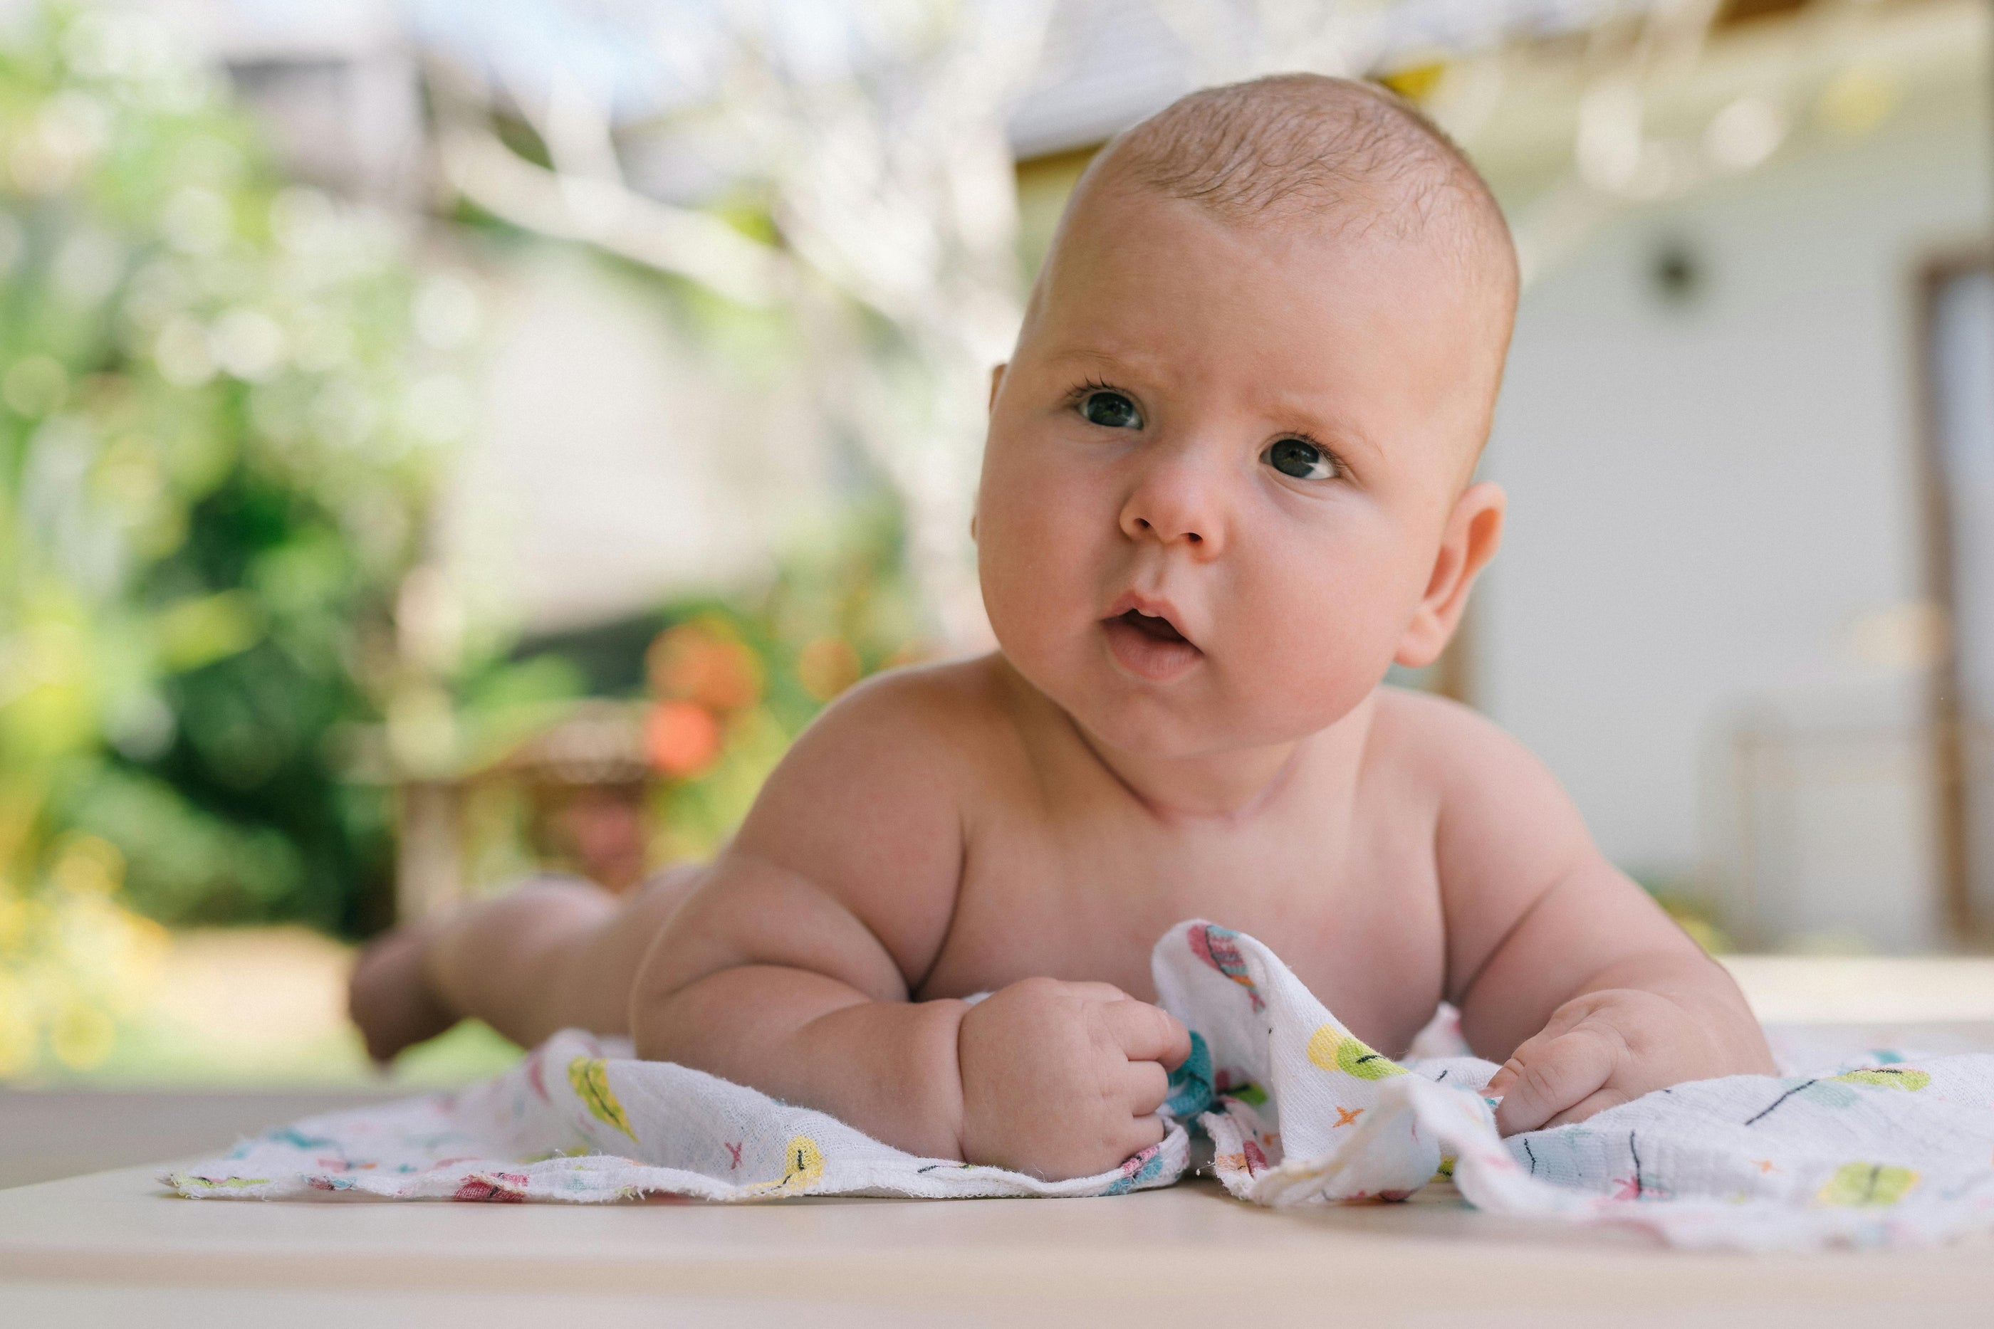
{"type": "Polygon", "coordinates": [[[1394,1064],[1266,946],[1208,923],[1172,929],[1153,970],[1161,1004],[1210,1058],[1214,1102],[1198,1124],[1240,1199],[1404,1199],[1452,1174],[1482,1209],[1627,1223],[1675,1245],[1916,1245],[1994,1229],[1994,1054],[1912,1064],[1874,1050],[1819,1074],[1701,1080],[1503,1140],[1482,1096],[1496,1066],[1436,1056],[1446,1028],[1394,1064]]]}

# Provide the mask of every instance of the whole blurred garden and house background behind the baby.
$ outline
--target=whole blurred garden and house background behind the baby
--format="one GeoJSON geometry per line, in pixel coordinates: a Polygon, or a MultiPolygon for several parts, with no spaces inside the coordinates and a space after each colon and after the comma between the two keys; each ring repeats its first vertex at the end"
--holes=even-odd
{"type": "Polygon", "coordinates": [[[1525,263],[1509,548],[1402,681],[1713,948],[1984,946],[1990,50],[1978,0],[0,4],[0,1082],[367,1082],[355,942],[704,857],[826,701],[983,648],[1067,189],[1290,68],[1420,102],[1525,263]]]}

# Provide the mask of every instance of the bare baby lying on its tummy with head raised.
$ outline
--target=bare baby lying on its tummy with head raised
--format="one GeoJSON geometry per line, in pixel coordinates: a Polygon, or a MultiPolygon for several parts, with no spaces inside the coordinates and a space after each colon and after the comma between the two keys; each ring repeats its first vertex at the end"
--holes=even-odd
{"type": "Polygon", "coordinates": [[[913,1154],[1085,1176],[1163,1138],[1190,1044],[1149,952],[1202,917],[1386,1052],[1458,1004],[1505,1132],[1771,1074],[1551,775],[1382,685],[1496,554],[1472,472],[1515,299],[1488,187],[1390,94],[1266,78],[1129,130],[991,379],[997,654],[841,697],[710,867],[391,934],[369,1048],[630,1034],[913,1154]]]}

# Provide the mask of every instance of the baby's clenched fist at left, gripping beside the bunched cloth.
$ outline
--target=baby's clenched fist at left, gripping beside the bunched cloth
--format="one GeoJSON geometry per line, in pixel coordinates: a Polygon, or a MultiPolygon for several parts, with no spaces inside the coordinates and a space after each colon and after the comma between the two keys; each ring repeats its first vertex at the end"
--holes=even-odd
{"type": "Polygon", "coordinates": [[[963,1162],[1057,1182],[1163,1140],[1157,1108],[1190,1034],[1107,982],[1025,978],[969,1008],[957,1056],[963,1162]]]}

